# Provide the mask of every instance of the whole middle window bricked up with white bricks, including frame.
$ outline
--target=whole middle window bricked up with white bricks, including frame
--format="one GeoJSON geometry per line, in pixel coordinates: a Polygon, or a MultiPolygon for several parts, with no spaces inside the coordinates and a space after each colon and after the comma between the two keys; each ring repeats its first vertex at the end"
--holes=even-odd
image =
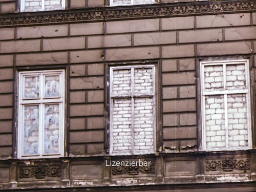
{"type": "Polygon", "coordinates": [[[110,153],[155,152],[155,66],[110,69],[110,153]]]}

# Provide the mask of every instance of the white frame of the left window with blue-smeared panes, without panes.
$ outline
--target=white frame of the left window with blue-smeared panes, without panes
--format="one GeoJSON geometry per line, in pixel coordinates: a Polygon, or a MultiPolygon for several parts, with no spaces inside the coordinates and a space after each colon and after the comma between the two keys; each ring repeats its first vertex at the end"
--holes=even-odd
{"type": "Polygon", "coordinates": [[[19,159],[34,158],[57,158],[64,156],[65,145],[65,70],[45,70],[45,71],[25,71],[18,74],[18,127],[17,127],[17,157],[19,159]],[[24,98],[24,82],[26,76],[39,76],[39,97],[40,98],[24,98]],[[60,75],[59,89],[60,96],[43,98],[44,95],[44,76],[60,75]],[[59,153],[44,155],[44,110],[45,104],[59,104],[59,153]],[[24,138],[24,105],[38,104],[38,154],[39,155],[23,155],[23,138],[24,138]]]}

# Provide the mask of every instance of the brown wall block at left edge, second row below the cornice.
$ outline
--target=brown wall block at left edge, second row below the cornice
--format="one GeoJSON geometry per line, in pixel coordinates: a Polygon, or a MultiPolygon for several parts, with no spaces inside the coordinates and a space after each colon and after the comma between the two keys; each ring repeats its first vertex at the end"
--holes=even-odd
{"type": "Polygon", "coordinates": [[[17,40],[0,42],[1,53],[40,51],[40,40],[17,40]]]}

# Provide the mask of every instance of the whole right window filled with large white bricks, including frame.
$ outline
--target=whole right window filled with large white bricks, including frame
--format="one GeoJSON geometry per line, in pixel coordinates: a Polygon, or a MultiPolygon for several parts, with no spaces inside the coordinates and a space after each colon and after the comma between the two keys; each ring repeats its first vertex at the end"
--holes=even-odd
{"type": "Polygon", "coordinates": [[[201,62],[203,150],[251,148],[248,60],[201,62]]]}

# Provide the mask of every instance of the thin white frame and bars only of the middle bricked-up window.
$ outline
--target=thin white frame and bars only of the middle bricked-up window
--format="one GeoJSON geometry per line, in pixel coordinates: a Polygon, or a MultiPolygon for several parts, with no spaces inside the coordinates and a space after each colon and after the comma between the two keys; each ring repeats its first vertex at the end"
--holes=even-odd
{"type": "MultiPolygon", "coordinates": [[[[132,140],[133,140],[132,139],[132,140]]],[[[110,67],[110,155],[141,155],[141,154],[153,154],[156,152],[156,69],[154,65],[136,65],[136,66],[125,66],[125,67],[110,67]],[[147,94],[143,96],[135,96],[134,95],[134,69],[140,68],[152,68],[153,73],[153,94],[147,94]],[[112,96],[113,93],[113,71],[114,70],[125,70],[131,69],[131,96],[112,96]],[[131,153],[116,153],[113,152],[113,100],[114,99],[122,99],[122,98],[131,98],[132,100],[132,138],[134,139],[134,99],[135,98],[143,98],[143,97],[152,97],[153,99],[153,145],[154,152],[148,153],[146,150],[144,153],[135,153],[134,152],[134,141],[132,142],[132,152],[131,153]]]]}

